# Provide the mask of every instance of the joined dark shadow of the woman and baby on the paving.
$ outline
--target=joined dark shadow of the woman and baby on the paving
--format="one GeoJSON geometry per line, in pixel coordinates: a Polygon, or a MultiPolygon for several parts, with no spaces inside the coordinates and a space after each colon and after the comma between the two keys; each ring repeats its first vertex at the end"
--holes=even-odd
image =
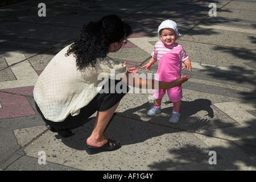
{"type": "MultiPolygon", "coordinates": [[[[179,127],[181,126],[183,127],[182,130],[193,130],[195,127],[198,129],[198,127],[210,125],[210,119],[214,117],[213,109],[210,107],[210,105],[212,105],[211,101],[207,99],[183,101],[181,106],[182,118],[180,118],[179,123],[173,124],[168,122],[168,119],[171,116],[170,110],[172,110],[171,103],[163,102],[162,105],[164,104],[170,105],[170,107],[162,109],[162,114],[157,114],[154,117],[150,117],[146,114],[147,110],[152,106],[149,102],[127,109],[123,112],[115,113],[109,122],[105,135],[108,138],[119,140],[124,146],[127,144],[144,142],[150,138],[158,137],[163,134],[176,133],[177,131],[180,131],[179,127]],[[193,118],[193,122],[188,122],[187,118],[202,110],[208,113],[205,115],[205,118],[208,118],[207,120],[193,118]],[[147,118],[147,121],[144,121],[145,118],[147,118]]],[[[72,137],[61,138],[62,142],[68,147],[76,150],[85,150],[86,139],[92,132],[94,119],[95,117],[91,117],[84,123],[84,125],[77,127],[75,129],[76,134],[72,137]]],[[[60,139],[60,137],[58,138],[60,139]]]]}

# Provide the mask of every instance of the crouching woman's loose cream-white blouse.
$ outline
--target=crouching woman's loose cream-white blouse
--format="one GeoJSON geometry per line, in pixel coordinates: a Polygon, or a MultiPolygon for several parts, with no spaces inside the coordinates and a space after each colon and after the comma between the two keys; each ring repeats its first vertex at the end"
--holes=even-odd
{"type": "Polygon", "coordinates": [[[95,67],[79,71],[73,55],[65,56],[69,46],[49,62],[34,87],[34,98],[44,117],[61,122],[69,114],[75,116],[100,92],[108,78],[126,75],[127,68],[110,57],[97,60],[95,67]]]}

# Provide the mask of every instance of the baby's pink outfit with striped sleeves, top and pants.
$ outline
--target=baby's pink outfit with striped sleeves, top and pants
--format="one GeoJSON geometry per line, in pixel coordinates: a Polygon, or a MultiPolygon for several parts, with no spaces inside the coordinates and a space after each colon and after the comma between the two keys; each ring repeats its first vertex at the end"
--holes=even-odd
{"type": "MultiPolygon", "coordinates": [[[[180,77],[182,63],[188,59],[183,47],[174,43],[171,46],[165,46],[162,41],[155,44],[152,57],[158,60],[158,71],[155,80],[171,82],[180,77]]],[[[160,99],[166,93],[166,89],[154,90],[152,95],[155,99],[160,99]]],[[[179,102],[182,99],[182,88],[176,86],[167,89],[171,102],[179,102]]]]}

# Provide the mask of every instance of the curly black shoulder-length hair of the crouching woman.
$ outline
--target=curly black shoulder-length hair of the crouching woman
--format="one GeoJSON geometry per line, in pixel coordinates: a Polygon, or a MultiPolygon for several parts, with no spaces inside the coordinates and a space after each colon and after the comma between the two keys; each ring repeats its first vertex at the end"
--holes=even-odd
{"type": "Polygon", "coordinates": [[[65,54],[73,53],[76,66],[82,68],[95,66],[96,60],[103,60],[112,43],[119,42],[132,34],[132,28],[117,15],[107,15],[98,22],[89,22],[81,28],[80,36],[75,40],[65,54]]]}

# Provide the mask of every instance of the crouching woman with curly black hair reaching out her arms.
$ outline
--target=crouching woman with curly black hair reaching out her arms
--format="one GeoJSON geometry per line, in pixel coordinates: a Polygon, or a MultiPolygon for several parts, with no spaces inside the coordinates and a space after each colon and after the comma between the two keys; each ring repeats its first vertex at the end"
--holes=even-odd
{"type": "MultiPolygon", "coordinates": [[[[36,108],[48,129],[62,137],[72,136],[74,132],[69,129],[81,126],[97,111],[92,134],[86,140],[88,154],[121,147],[119,142],[104,135],[114,111],[127,93],[115,92],[115,85],[122,80],[132,86],[154,89],[154,80],[141,79],[135,75],[129,77],[138,70],[127,69],[126,64],[107,56],[109,52],[117,52],[131,33],[129,24],[122,22],[116,15],[104,16],[98,22],[85,24],[79,38],[57,53],[36,81],[36,108]],[[113,83],[113,80],[109,80],[113,77],[112,70],[115,74],[123,75],[121,79],[114,80],[114,85],[109,84],[113,83]],[[107,78],[102,79],[102,75],[107,78]]],[[[172,88],[188,78],[159,82],[159,88],[172,88]]],[[[122,90],[129,89],[126,84],[122,90]]]]}

